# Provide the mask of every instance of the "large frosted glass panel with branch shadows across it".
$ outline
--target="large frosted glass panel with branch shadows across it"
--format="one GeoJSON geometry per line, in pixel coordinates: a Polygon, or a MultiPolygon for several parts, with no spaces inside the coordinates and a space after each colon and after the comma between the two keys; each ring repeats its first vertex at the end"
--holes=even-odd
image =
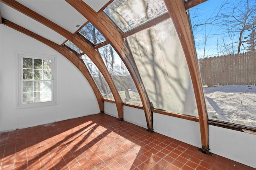
{"type": "Polygon", "coordinates": [[[188,65],[172,20],[127,40],[153,107],[198,116],[188,65]]]}

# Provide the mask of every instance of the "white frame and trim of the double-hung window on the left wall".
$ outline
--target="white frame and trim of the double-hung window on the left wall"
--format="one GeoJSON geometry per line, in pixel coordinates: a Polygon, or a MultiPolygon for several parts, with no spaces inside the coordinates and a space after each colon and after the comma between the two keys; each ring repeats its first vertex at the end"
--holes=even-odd
{"type": "Polygon", "coordinates": [[[26,53],[16,51],[16,64],[17,64],[17,109],[29,108],[29,107],[42,107],[49,105],[57,105],[56,100],[56,85],[57,85],[57,65],[56,65],[56,56],[54,55],[43,55],[43,54],[35,54],[35,53],[26,53]],[[33,58],[33,59],[48,59],[52,60],[51,71],[52,71],[52,101],[48,102],[39,102],[39,103],[26,103],[23,104],[23,77],[22,77],[22,69],[23,69],[23,57],[24,58],[33,58]]]}

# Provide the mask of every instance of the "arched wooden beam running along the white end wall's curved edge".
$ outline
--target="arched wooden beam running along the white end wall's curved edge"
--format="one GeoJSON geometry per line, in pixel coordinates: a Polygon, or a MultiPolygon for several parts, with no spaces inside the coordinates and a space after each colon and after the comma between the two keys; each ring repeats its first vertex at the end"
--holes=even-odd
{"type": "Polygon", "coordinates": [[[42,36],[39,36],[39,35],[35,34],[34,32],[31,32],[31,31],[27,30],[26,28],[18,26],[17,24],[14,24],[13,22],[10,22],[8,20],[6,20],[6,24],[4,24],[4,25],[6,25],[18,32],[26,34],[27,36],[30,36],[30,37],[48,45],[49,47],[55,49],[60,54],[62,54],[64,57],[66,57],[69,61],[71,61],[82,72],[84,77],[86,77],[86,79],[88,80],[89,84],[92,87],[92,90],[94,91],[96,99],[98,101],[100,112],[104,112],[104,102],[103,102],[103,97],[100,93],[100,90],[98,89],[98,87],[97,87],[96,83],[94,82],[88,69],[86,67],[84,67],[84,62],[81,59],[79,59],[79,57],[75,53],[70,51],[68,49],[68,47],[60,46],[54,42],[51,42],[50,40],[47,40],[46,38],[43,38],[42,36]]]}

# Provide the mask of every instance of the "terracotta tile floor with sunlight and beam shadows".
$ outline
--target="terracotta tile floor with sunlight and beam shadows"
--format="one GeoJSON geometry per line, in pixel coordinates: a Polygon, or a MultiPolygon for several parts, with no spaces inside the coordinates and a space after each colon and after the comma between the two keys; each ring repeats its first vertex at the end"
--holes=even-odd
{"type": "MultiPolygon", "coordinates": [[[[1,170],[253,169],[106,114],[1,133],[1,170]]],[[[255,169],[254,169],[255,170],[255,169]]]]}

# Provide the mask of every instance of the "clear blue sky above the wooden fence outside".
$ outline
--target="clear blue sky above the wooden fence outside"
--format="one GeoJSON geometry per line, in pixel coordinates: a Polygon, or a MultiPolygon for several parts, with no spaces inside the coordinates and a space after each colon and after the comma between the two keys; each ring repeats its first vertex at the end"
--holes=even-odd
{"type": "MultiPolygon", "coordinates": [[[[208,20],[208,22],[211,23],[211,21],[214,20],[214,16],[216,16],[220,7],[225,2],[228,2],[230,5],[225,5],[224,8],[222,8],[221,12],[224,14],[228,14],[227,8],[232,7],[233,4],[236,5],[241,1],[243,4],[246,4],[246,0],[228,0],[228,1],[208,0],[206,2],[203,2],[202,4],[199,4],[198,6],[195,6],[189,9],[198,58],[223,55],[225,53],[228,54],[230,53],[230,51],[224,50],[224,52],[221,53],[220,50],[221,48],[224,47],[223,42],[225,44],[230,44],[232,43],[232,41],[230,38],[225,38],[225,39],[222,38],[224,34],[221,34],[221,33],[227,32],[226,31],[227,29],[225,27],[223,31],[223,30],[219,30],[220,26],[214,26],[209,24],[209,25],[202,25],[202,26],[196,27],[194,25],[199,23],[206,23],[206,20],[209,18],[210,20],[208,20]],[[216,34],[219,34],[219,35],[216,35],[216,34]],[[206,36],[204,35],[206,35],[207,38],[205,38],[206,36]],[[205,48],[206,50],[204,50],[205,42],[206,42],[206,48],[205,48]],[[205,51],[205,54],[204,54],[204,51],[205,51]]],[[[250,6],[254,6],[256,4],[256,1],[249,0],[249,4],[250,6]]],[[[217,23],[217,22],[214,21],[212,23],[217,23]]],[[[243,39],[245,36],[248,36],[248,34],[250,34],[250,32],[245,32],[243,35],[243,39]]],[[[225,35],[227,36],[227,34],[225,35]]],[[[238,35],[234,37],[233,42],[238,42],[238,35]]],[[[244,43],[244,45],[247,45],[247,44],[244,43]]],[[[235,49],[234,53],[237,53],[237,48],[234,47],[234,49],[235,49]]],[[[241,52],[246,52],[246,51],[241,50],[241,52]]]]}

